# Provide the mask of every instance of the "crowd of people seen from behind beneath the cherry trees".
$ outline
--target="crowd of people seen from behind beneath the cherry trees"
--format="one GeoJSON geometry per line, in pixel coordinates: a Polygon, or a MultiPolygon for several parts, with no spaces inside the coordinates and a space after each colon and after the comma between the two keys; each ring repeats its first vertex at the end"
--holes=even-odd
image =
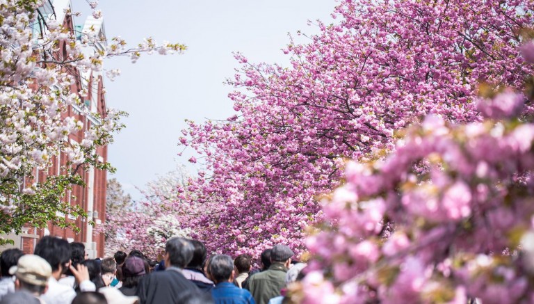
{"type": "Polygon", "coordinates": [[[139,250],[88,259],[83,243],[43,237],[33,254],[13,248],[0,254],[0,304],[281,304],[286,286],[306,264],[288,246],[252,257],[211,255],[201,241],[175,237],[157,262],[139,250]]]}

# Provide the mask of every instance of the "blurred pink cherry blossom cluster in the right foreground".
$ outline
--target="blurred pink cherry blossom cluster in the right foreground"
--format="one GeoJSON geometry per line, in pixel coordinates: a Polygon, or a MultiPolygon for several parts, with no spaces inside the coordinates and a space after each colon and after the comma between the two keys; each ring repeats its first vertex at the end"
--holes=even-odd
{"type": "Polygon", "coordinates": [[[387,157],[348,163],[296,301],[533,303],[534,124],[517,118],[533,88],[480,97],[482,121],[429,115],[387,157]]]}

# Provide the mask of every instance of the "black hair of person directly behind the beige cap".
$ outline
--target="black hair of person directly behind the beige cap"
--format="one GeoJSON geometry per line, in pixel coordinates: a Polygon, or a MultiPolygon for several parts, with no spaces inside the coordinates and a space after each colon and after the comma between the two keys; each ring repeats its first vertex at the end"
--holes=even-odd
{"type": "Polygon", "coordinates": [[[70,261],[69,242],[57,237],[42,237],[33,253],[45,259],[52,267],[52,272],[58,271],[59,265],[63,265],[63,271],[66,271],[65,264],[70,261]]]}

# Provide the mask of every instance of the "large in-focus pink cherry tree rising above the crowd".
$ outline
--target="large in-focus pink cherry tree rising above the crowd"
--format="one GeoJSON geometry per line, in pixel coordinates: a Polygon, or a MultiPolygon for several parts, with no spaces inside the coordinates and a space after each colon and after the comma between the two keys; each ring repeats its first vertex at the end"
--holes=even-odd
{"type": "Polygon", "coordinates": [[[209,206],[189,221],[195,237],[232,254],[274,243],[302,250],[305,228],[325,216],[318,195],[345,178],[344,159],[394,149],[395,131],[423,115],[480,120],[480,82],[523,88],[533,67],[517,46],[533,8],[532,0],[342,1],[334,24],[318,22],[309,43],[283,50],[290,67],[236,54],[242,68],[228,81],[236,115],[189,122],[181,138],[199,154],[190,161],[206,167],[179,187],[182,200],[209,206]]]}

